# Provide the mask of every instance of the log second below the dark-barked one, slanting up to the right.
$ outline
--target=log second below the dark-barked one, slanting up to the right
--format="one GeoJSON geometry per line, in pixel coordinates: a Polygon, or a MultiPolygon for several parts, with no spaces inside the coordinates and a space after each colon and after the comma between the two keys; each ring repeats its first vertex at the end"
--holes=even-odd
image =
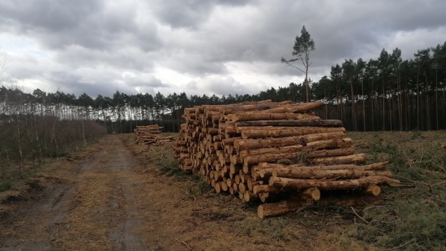
{"type": "Polygon", "coordinates": [[[318,140],[340,140],[345,138],[346,134],[342,131],[330,133],[313,133],[304,136],[291,136],[284,138],[266,138],[266,139],[237,139],[234,140],[234,147],[237,151],[244,149],[258,149],[266,147],[284,147],[287,145],[307,145],[318,140]]]}

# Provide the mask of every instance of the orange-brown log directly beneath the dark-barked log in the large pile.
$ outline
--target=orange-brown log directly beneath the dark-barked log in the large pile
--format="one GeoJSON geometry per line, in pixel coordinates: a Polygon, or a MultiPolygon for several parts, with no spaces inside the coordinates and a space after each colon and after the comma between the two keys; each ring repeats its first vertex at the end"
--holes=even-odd
{"type": "MultiPolygon", "coordinates": [[[[243,127],[242,127],[243,128],[243,127]]],[[[259,127],[261,128],[261,127],[259,127]]],[[[283,127],[279,127],[283,128],[283,127]]],[[[330,132],[346,132],[344,127],[289,127],[290,129],[276,129],[268,127],[268,129],[254,129],[241,131],[243,139],[247,138],[281,138],[291,136],[302,136],[314,133],[330,133],[330,132]]]]}

